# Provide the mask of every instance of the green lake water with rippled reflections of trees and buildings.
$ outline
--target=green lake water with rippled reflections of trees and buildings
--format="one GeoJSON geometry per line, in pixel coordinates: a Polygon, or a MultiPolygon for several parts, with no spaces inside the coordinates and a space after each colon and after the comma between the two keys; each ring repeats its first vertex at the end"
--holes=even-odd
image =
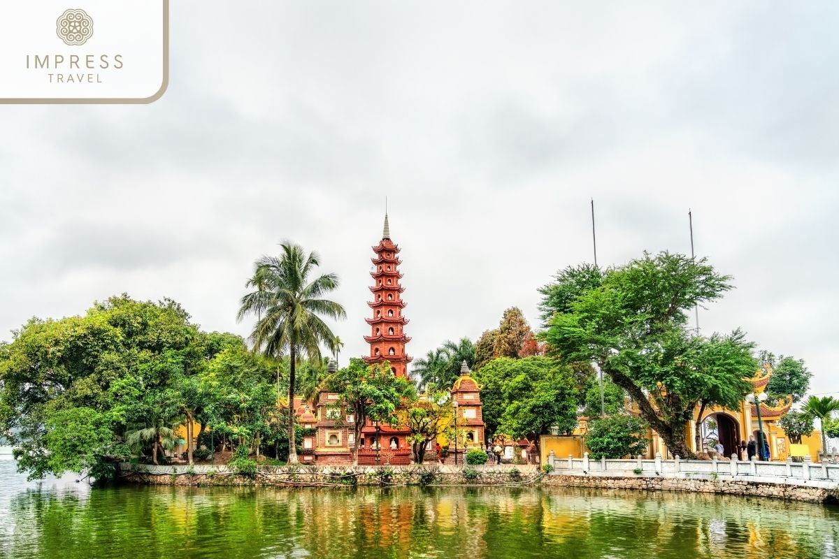
{"type": "Polygon", "coordinates": [[[0,556],[836,557],[839,508],[506,488],[91,489],[0,460],[0,556]]]}

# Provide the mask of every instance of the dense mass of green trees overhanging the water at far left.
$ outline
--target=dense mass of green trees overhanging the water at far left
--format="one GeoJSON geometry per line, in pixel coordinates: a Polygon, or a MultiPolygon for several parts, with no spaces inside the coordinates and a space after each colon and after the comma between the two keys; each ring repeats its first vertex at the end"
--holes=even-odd
{"type": "Polygon", "coordinates": [[[255,449],[288,432],[275,365],[236,335],[202,332],[173,301],[123,295],[84,316],[33,318],[0,347],[0,428],[30,478],[104,478],[132,453],[157,463],[188,417],[217,448],[255,449]]]}

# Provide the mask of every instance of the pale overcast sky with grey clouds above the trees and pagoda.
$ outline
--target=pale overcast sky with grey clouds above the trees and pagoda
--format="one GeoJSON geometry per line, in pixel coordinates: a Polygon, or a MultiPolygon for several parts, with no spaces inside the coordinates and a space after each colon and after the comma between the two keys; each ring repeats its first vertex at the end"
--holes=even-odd
{"type": "Polygon", "coordinates": [[[839,391],[839,3],[177,0],[150,106],[0,106],[0,339],[128,292],[236,323],[289,239],[367,349],[388,195],[411,355],[538,325],[558,269],[696,251],[742,327],[839,391]],[[678,5],[677,5],[678,4],[678,5]]]}

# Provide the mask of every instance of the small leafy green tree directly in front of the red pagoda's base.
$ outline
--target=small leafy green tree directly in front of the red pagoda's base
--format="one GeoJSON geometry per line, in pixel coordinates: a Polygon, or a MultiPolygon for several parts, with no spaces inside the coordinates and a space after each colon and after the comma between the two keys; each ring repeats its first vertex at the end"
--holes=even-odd
{"type": "Polygon", "coordinates": [[[352,461],[358,464],[358,444],[362,427],[367,420],[395,427],[399,423],[397,407],[404,400],[415,397],[414,386],[401,376],[395,376],[387,361],[367,365],[364,360],[353,357],[350,364],[326,377],[327,391],[338,395],[336,407],[337,423],[343,421],[346,413],[352,413],[355,433],[352,461]]]}

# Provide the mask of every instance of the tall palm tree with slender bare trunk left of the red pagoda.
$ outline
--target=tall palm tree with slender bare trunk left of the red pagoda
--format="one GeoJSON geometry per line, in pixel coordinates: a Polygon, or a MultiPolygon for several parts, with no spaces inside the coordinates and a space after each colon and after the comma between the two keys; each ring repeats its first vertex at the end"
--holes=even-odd
{"type": "Polygon", "coordinates": [[[263,256],[254,263],[246,287],[255,291],[242,297],[237,320],[257,315],[250,339],[253,349],[279,357],[289,352],[289,463],[297,463],[294,448],[294,375],[297,360],[305,355],[320,361],[320,344],[335,351],[336,335],[319,315],[345,318],[347,312],[334,301],[321,298],[338,287],[336,274],[323,274],[309,281],[320,265],[315,252],[284,241],[278,256],[263,256]]]}

